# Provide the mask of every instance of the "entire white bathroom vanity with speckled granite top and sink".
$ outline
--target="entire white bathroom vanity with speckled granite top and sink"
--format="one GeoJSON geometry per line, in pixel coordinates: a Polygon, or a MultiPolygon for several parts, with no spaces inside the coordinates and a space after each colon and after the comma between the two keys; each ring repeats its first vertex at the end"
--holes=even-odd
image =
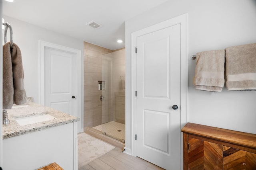
{"type": "Polygon", "coordinates": [[[78,117],[35,103],[8,109],[3,125],[3,169],[35,170],[56,162],[64,170],[78,169],[78,117]]]}

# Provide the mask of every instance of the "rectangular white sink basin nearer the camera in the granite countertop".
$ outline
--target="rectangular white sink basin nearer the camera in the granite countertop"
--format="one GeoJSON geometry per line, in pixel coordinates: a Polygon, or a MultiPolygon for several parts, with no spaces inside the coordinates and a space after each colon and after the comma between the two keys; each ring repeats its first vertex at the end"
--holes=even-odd
{"type": "Polygon", "coordinates": [[[19,125],[30,125],[33,123],[38,123],[42,121],[48,121],[55,119],[54,116],[49,114],[43,114],[43,115],[36,115],[36,116],[30,116],[30,117],[22,117],[22,118],[16,118],[15,120],[19,123],[19,125]]]}

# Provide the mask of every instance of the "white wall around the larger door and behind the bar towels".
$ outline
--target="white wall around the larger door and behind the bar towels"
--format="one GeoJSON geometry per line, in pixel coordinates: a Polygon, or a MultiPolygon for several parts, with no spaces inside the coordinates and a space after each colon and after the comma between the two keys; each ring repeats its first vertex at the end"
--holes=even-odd
{"type": "Polygon", "coordinates": [[[256,134],[256,92],[195,90],[201,51],[256,43],[256,0],[169,0],[126,21],[126,148],[131,149],[131,33],[188,13],[187,121],[256,134]]]}

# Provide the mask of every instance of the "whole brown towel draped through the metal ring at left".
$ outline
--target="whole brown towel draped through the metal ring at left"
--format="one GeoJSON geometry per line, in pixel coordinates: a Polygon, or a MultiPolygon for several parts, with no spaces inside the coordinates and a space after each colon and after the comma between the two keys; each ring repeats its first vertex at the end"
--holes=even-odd
{"type": "Polygon", "coordinates": [[[3,64],[3,109],[11,109],[13,104],[20,105],[27,101],[23,86],[22,56],[18,45],[13,43],[12,49],[9,42],[4,45],[3,64]]]}

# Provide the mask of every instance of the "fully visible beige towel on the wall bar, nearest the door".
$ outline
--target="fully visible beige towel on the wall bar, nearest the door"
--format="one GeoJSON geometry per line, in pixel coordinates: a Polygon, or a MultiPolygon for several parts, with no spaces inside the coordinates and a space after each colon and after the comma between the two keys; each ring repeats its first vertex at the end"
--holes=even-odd
{"type": "Polygon", "coordinates": [[[196,54],[194,86],[196,90],[221,92],[224,86],[225,51],[213,50],[196,54]]]}

